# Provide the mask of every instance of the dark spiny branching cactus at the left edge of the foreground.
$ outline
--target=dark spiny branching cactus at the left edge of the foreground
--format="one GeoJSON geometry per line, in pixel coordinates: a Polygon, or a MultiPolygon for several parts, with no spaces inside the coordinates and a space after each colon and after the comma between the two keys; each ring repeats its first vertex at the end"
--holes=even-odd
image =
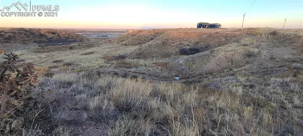
{"type": "Polygon", "coordinates": [[[39,109],[36,101],[38,95],[32,90],[38,85],[38,76],[33,63],[23,63],[19,70],[14,64],[19,59],[17,54],[5,54],[0,63],[0,135],[18,131],[24,123],[24,115],[39,109]]]}

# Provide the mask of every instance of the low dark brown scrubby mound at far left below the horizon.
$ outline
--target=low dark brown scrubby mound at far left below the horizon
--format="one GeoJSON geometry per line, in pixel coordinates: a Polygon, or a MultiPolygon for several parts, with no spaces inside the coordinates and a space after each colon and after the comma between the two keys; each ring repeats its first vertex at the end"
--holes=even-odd
{"type": "Polygon", "coordinates": [[[65,30],[29,28],[0,29],[0,42],[4,45],[31,43],[43,45],[66,45],[85,40],[87,40],[87,38],[65,30]]]}

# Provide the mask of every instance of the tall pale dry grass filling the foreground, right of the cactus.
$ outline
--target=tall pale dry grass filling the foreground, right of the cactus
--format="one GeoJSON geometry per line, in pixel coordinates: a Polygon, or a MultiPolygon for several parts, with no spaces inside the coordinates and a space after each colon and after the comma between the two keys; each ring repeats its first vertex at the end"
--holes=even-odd
{"type": "Polygon", "coordinates": [[[87,121],[105,125],[102,130],[105,135],[283,135],[302,132],[299,125],[302,114],[291,106],[292,103],[300,106],[302,99],[294,97],[290,103],[285,101],[283,94],[300,94],[298,83],[290,83],[292,80],[287,78],[269,79],[268,85],[253,82],[251,86],[267,90],[257,93],[262,90],[246,87],[246,84],[252,84],[248,83],[251,78],[239,79],[236,83],[228,83],[233,77],[223,79],[226,81],[218,90],[86,72],[83,76],[63,74],[44,78],[35,91],[53,90],[51,97],[61,101],[61,105],[49,110],[52,128],[56,128],[52,129],[53,133],[71,135],[87,121]],[[269,96],[271,99],[264,98],[266,92],[273,93],[269,96]],[[282,109],[283,106],[287,109],[282,109]],[[71,121],[76,122],[76,126],[71,121]]]}

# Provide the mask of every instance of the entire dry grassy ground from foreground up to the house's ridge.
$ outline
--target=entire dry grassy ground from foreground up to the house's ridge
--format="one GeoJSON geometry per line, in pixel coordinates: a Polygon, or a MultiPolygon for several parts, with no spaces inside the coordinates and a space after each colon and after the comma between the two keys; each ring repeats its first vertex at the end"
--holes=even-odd
{"type": "Polygon", "coordinates": [[[32,91],[51,92],[40,104],[60,104],[4,135],[303,135],[301,29],[139,30],[14,53],[40,75],[32,91]]]}

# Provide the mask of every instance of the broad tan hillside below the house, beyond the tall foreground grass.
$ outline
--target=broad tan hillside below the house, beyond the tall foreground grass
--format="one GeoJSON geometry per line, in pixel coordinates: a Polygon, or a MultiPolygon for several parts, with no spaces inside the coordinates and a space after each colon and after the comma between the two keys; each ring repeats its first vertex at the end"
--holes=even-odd
{"type": "MultiPolygon", "coordinates": [[[[119,67],[121,65],[119,63],[123,63],[122,67],[119,67],[122,69],[114,69],[114,71],[130,69],[134,75],[145,73],[147,79],[157,80],[172,80],[172,75],[182,76],[184,82],[189,82],[199,81],[200,78],[209,75],[225,75],[233,71],[247,70],[257,75],[270,75],[269,71],[282,72],[280,62],[284,61],[285,57],[300,57],[303,51],[302,34],[299,33],[300,30],[277,30],[276,34],[271,34],[273,31],[270,28],[248,28],[243,31],[239,29],[139,30],[100,42],[32,48],[25,52],[47,56],[52,56],[56,52],[56,56],[66,58],[66,62],[75,63],[74,69],[78,69],[79,66],[85,67],[84,69],[109,66],[109,71],[112,71],[112,68],[119,67]],[[182,48],[197,48],[198,51],[191,55],[180,55],[179,51],[182,48]],[[85,55],[82,55],[83,53],[85,55]],[[66,56],[70,54],[77,55],[77,58],[66,56]],[[127,59],[115,59],[115,56],[119,55],[124,55],[127,59]],[[88,59],[91,59],[91,64],[86,64],[88,59]],[[274,61],[278,59],[282,60],[274,61]],[[280,68],[275,68],[279,65],[280,68]]],[[[52,59],[48,57],[30,59],[41,65],[52,64],[52,59]]],[[[291,62],[286,59],[283,64],[291,67],[294,62],[301,63],[299,59],[291,62]]]]}

